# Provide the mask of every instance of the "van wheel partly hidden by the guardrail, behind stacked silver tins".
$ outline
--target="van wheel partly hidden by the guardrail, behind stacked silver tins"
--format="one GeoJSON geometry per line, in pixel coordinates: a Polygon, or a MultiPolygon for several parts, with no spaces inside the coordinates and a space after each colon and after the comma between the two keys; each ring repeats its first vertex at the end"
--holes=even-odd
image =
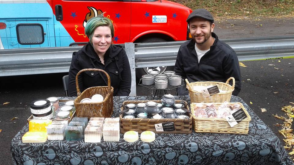
{"type": "MultiPolygon", "coordinates": [[[[154,38],[142,39],[139,42],[140,43],[150,43],[150,42],[167,42],[167,41],[165,39],[154,37],[154,38]]],[[[136,79],[140,80],[142,75],[146,75],[150,71],[159,71],[160,73],[163,73],[166,70],[166,68],[167,68],[166,66],[136,68],[136,79]]]]}

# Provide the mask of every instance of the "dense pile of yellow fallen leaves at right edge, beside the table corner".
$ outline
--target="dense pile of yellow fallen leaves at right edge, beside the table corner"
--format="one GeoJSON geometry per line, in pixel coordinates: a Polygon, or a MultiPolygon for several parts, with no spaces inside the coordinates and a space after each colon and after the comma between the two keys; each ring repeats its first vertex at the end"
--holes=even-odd
{"type": "MultiPolygon", "coordinates": [[[[283,128],[281,130],[279,130],[279,133],[284,136],[283,141],[285,141],[285,143],[286,143],[284,148],[288,149],[288,150],[292,149],[292,151],[289,152],[289,155],[293,155],[294,154],[294,148],[293,148],[293,146],[294,146],[294,133],[293,133],[293,129],[291,127],[292,127],[292,122],[293,122],[293,118],[294,118],[294,107],[289,105],[289,106],[283,107],[281,110],[287,113],[288,119],[286,119],[285,117],[282,117],[282,116],[281,117],[277,116],[277,114],[273,115],[273,116],[275,116],[278,119],[284,120],[283,128]]],[[[293,159],[293,157],[292,157],[292,159],[293,159]]]]}

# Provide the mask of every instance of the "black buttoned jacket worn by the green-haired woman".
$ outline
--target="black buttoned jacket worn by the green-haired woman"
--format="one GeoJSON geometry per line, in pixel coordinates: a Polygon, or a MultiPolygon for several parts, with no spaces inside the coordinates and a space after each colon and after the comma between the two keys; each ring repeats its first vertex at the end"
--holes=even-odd
{"type": "MultiPolygon", "coordinates": [[[[113,96],[129,96],[131,88],[131,71],[126,52],[121,46],[111,45],[104,55],[104,64],[88,42],[81,50],[73,53],[69,71],[68,94],[77,96],[75,77],[85,68],[103,69],[111,79],[113,96]]],[[[81,92],[92,86],[107,86],[107,77],[102,72],[86,71],[79,76],[81,92]]]]}

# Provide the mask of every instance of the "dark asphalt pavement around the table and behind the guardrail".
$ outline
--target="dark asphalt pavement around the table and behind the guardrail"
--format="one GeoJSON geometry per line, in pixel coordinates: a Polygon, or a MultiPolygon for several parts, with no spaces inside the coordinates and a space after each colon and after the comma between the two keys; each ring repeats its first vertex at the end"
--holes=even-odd
{"type": "MultiPolygon", "coordinates": [[[[218,20],[214,32],[220,39],[294,35],[293,25],[293,18],[218,20]]],[[[242,63],[246,67],[240,67],[242,89],[238,96],[284,144],[283,137],[278,133],[281,127],[275,126],[276,123],[283,121],[273,117],[273,114],[286,116],[281,108],[294,102],[294,59],[242,61],[242,63]],[[265,108],[267,112],[261,112],[261,108],[265,108]]],[[[12,164],[10,142],[27,123],[31,115],[30,102],[47,97],[65,96],[62,86],[63,75],[67,73],[0,77],[0,164],[12,164]],[[6,102],[9,103],[4,104],[6,102]],[[14,117],[18,119],[13,119],[14,117]]],[[[171,90],[170,93],[175,94],[175,90],[171,90]]],[[[137,85],[137,95],[151,94],[151,90],[137,85]]]]}

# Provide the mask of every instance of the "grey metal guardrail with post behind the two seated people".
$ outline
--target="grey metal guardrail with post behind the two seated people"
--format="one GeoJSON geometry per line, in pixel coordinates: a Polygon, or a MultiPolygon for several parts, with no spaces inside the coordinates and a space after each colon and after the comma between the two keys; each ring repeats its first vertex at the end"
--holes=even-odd
{"type": "MultiPolygon", "coordinates": [[[[220,39],[231,46],[239,61],[294,57],[294,35],[220,39]]],[[[173,66],[185,41],[125,43],[135,90],[135,68],[173,66]]],[[[82,46],[0,50],[0,76],[68,72],[72,53],[82,46]]],[[[134,94],[132,90],[131,95],[134,94]]]]}

